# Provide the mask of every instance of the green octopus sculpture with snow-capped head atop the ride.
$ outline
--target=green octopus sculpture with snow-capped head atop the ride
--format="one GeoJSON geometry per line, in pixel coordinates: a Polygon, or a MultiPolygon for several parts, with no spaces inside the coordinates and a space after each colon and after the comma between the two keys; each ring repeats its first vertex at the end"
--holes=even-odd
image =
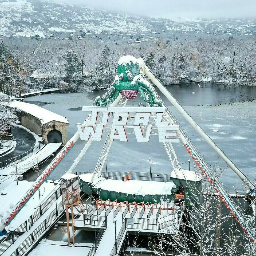
{"type": "MultiPolygon", "coordinates": [[[[162,102],[157,99],[152,85],[140,73],[139,64],[133,56],[123,56],[119,59],[117,75],[111,88],[102,97],[98,96],[93,106],[106,107],[108,103],[119,96],[119,93],[128,100],[135,99],[139,93],[142,100],[148,103],[150,107],[162,106],[162,102]]],[[[145,106],[140,103],[139,106],[141,105],[145,106]]]]}

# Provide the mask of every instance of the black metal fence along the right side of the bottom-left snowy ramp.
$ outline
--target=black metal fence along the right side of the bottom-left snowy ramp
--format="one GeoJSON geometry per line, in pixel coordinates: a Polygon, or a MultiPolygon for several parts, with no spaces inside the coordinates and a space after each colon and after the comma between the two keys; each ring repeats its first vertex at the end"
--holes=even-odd
{"type": "Polygon", "coordinates": [[[29,247],[32,246],[36,240],[53,224],[54,220],[63,212],[63,210],[63,204],[61,202],[10,256],[23,255],[27,249],[29,249],[29,247]]]}

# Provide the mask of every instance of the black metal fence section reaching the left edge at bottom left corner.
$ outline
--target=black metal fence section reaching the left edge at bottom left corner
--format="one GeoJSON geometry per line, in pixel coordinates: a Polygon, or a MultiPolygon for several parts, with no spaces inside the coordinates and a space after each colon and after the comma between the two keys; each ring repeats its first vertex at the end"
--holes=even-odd
{"type": "Polygon", "coordinates": [[[25,232],[27,232],[27,222],[23,222],[17,229],[10,232],[10,234],[0,243],[0,255],[2,255],[14,242],[25,232]]]}

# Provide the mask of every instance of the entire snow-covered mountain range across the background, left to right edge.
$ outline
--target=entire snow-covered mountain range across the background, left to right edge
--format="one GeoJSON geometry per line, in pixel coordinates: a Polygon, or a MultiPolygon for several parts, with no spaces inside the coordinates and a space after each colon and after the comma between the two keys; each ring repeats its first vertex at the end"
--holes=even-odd
{"type": "Polygon", "coordinates": [[[0,35],[46,36],[50,31],[216,31],[255,27],[255,19],[142,18],[127,13],[93,9],[83,5],[40,0],[0,0],[0,35]]]}

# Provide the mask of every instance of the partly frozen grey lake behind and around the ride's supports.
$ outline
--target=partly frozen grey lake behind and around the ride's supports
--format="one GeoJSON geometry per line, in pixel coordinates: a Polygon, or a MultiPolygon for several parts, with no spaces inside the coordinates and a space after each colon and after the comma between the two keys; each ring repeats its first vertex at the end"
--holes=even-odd
{"type": "MultiPolygon", "coordinates": [[[[255,99],[256,88],[252,86],[216,85],[216,84],[183,84],[170,85],[167,89],[197,121],[204,131],[226,153],[227,156],[248,176],[252,181],[255,175],[256,156],[254,154],[255,142],[255,99]],[[234,102],[232,105],[230,102],[234,102]],[[225,104],[226,103],[226,104],[225,104]],[[221,105],[220,105],[221,104],[221,105]],[[229,105],[230,104],[230,105],[229,105]],[[199,105],[199,106],[198,106],[199,105]],[[203,105],[203,106],[202,106],[203,105]],[[218,129],[218,132],[213,132],[218,129]]],[[[24,102],[33,103],[45,109],[66,116],[70,122],[67,127],[68,139],[77,131],[76,124],[82,123],[87,113],[82,112],[82,106],[92,106],[94,99],[105,91],[88,93],[54,93],[26,98],[24,102]]],[[[165,104],[182,125],[190,139],[199,149],[207,162],[214,166],[217,164],[223,170],[222,182],[232,193],[233,187],[242,192],[241,180],[230,168],[216,155],[202,137],[196,133],[176,109],[162,97],[165,104]]],[[[138,100],[128,101],[130,106],[137,106],[138,100]]],[[[94,141],[75,171],[94,170],[102,150],[102,141],[94,141]]],[[[68,155],[62,160],[50,179],[58,179],[72,165],[79,154],[84,142],[77,141],[68,155]]],[[[175,144],[175,151],[182,168],[188,169],[188,159],[191,159],[182,143],[175,144]]],[[[156,173],[169,173],[170,162],[157,136],[151,136],[149,143],[138,143],[135,137],[128,136],[128,142],[115,141],[107,159],[108,172],[111,171],[139,171],[149,172],[149,158],[151,170],[156,173]]],[[[193,168],[192,161],[190,168],[193,168]]],[[[30,175],[30,179],[34,179],[30,175]]]]}

